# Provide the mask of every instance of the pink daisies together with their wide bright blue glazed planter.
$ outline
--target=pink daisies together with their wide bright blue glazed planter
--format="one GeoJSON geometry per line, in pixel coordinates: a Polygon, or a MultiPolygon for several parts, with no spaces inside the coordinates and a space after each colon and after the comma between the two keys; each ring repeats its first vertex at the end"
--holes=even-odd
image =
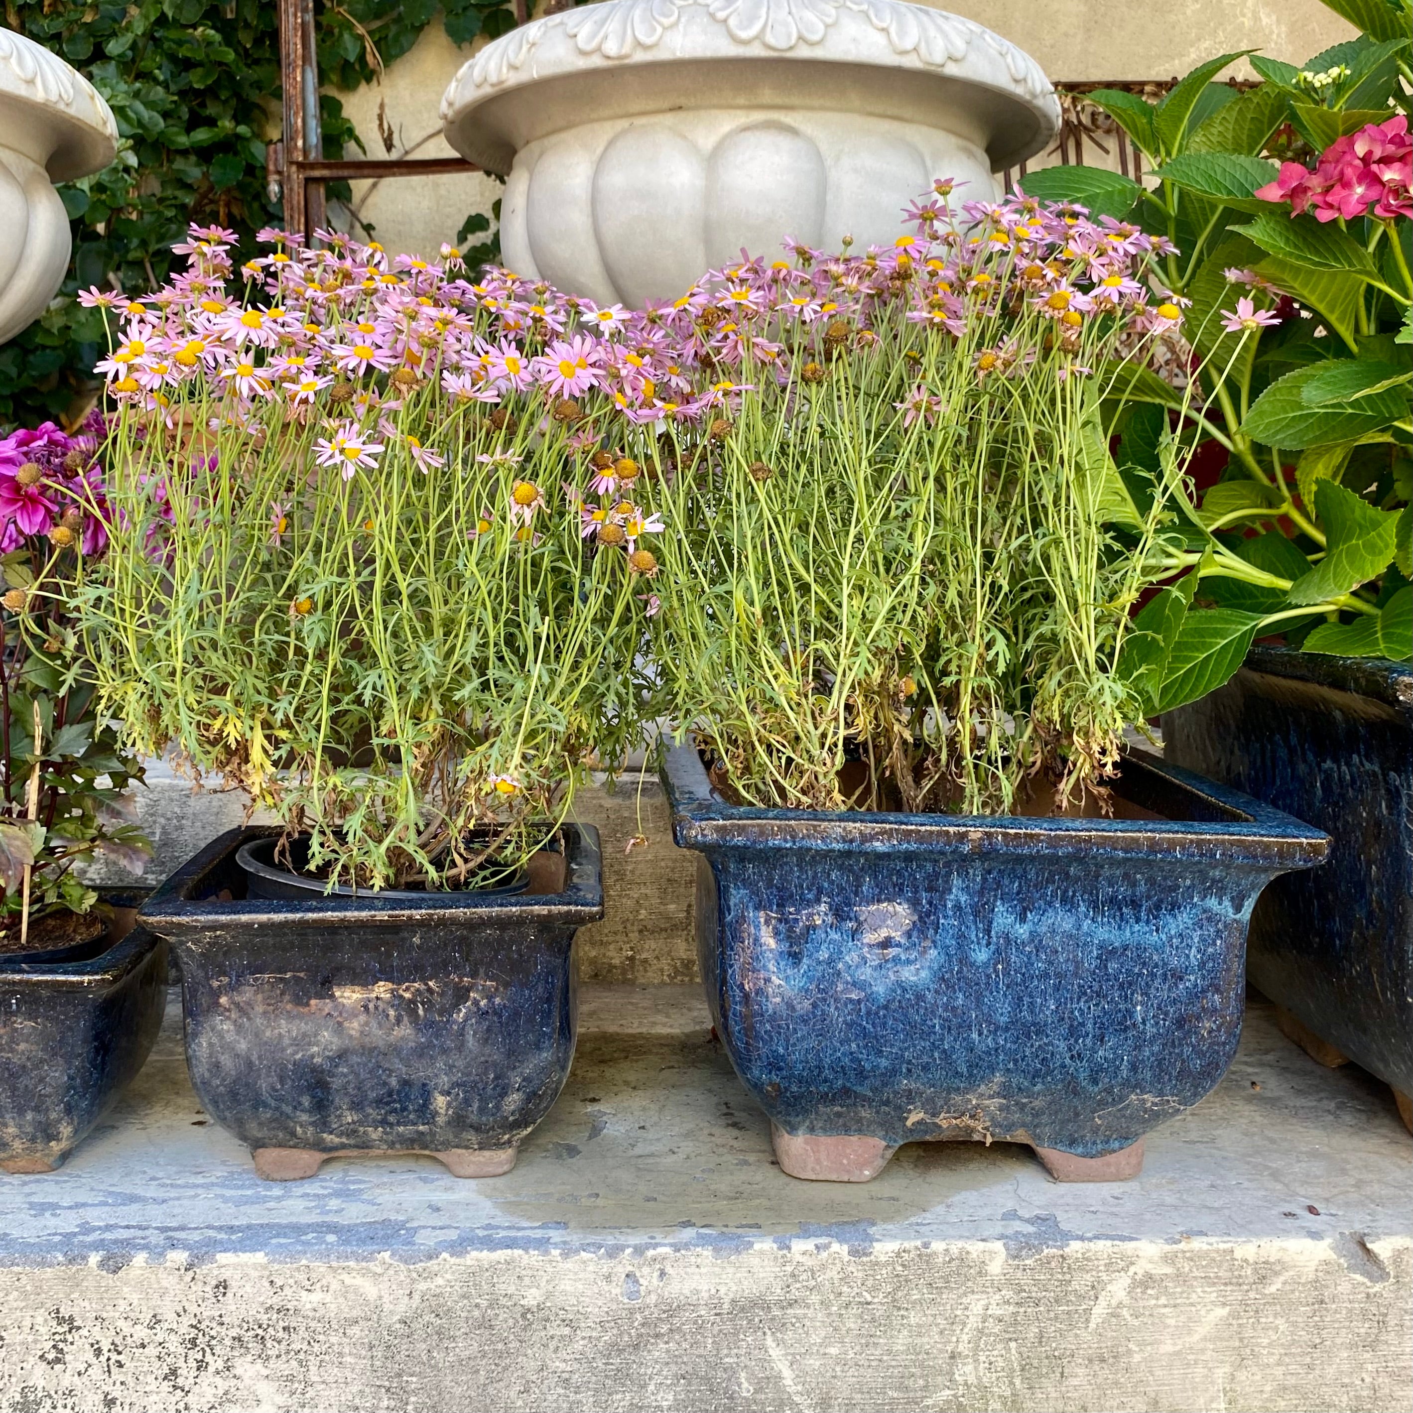
{"type": "Polygon", "coordinates": [[[674,315],[728,401],[660,438],[664,773],[786,1173],[1003,1139],[1129,1177],[1231,1060],[1256,896],[1325,841],[1123,749],[1130,612],[1186,552],[1190,444],[1109,455],[1181,326],[1164,244],[948,185],[887,247],[747,261],[674,315]]]}

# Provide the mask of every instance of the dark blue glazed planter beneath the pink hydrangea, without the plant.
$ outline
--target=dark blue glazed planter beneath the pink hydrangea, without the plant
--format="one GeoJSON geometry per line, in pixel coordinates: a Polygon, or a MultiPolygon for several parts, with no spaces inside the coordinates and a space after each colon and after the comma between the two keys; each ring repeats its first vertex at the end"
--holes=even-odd
{"type": "Polygon", "coordinates": [[[1393,1085],[1413,1128],[1413,667],[1256,649],[1163,732],[1171,759],[1332,835],[1325,868],[1262,897],[1251,978],[1303,1043],[1393,1085]]]}

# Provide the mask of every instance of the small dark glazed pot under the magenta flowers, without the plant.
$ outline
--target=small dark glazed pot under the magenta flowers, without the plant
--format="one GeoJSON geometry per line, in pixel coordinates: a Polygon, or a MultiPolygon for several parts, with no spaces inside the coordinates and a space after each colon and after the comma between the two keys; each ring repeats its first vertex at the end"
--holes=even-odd
{"type": "Polygon", "coordinates": [[[0,1170],[64,1163],[141,1070],[165,1003],[167,945],[130,909],[93,942],[0,957],[0,1170]]]}

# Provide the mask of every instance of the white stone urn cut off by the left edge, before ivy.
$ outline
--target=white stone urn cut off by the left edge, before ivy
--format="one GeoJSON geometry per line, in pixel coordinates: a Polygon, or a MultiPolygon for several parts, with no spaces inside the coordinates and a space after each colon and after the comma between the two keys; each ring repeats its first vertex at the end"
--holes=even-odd
{"type": "Polygon", "coordinates": [[[44,45],[0,30],[0,343],[64,281],[69,218],[54,182],[116,155],[117,124],[97,89],[44,45]]]}

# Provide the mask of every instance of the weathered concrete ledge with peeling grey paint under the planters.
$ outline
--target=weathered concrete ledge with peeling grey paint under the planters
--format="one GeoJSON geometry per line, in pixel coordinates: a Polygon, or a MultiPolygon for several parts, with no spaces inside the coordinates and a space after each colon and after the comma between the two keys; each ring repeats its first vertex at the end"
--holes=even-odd
{"type": "Polygon", "coordinates": [[[519,1167],[479,1181],[391,1159],[260,1183],[171,1029],[66,1169],[0,1183],[0,1407],[1413,1402],[1413,1140],[1382,1085],[1318,1068],[1263,1005],[1142,1178],[1095,1187],[1009,1145],[797,1183],[694,988],[588,989],[582,1019],[519,1167]]]}

